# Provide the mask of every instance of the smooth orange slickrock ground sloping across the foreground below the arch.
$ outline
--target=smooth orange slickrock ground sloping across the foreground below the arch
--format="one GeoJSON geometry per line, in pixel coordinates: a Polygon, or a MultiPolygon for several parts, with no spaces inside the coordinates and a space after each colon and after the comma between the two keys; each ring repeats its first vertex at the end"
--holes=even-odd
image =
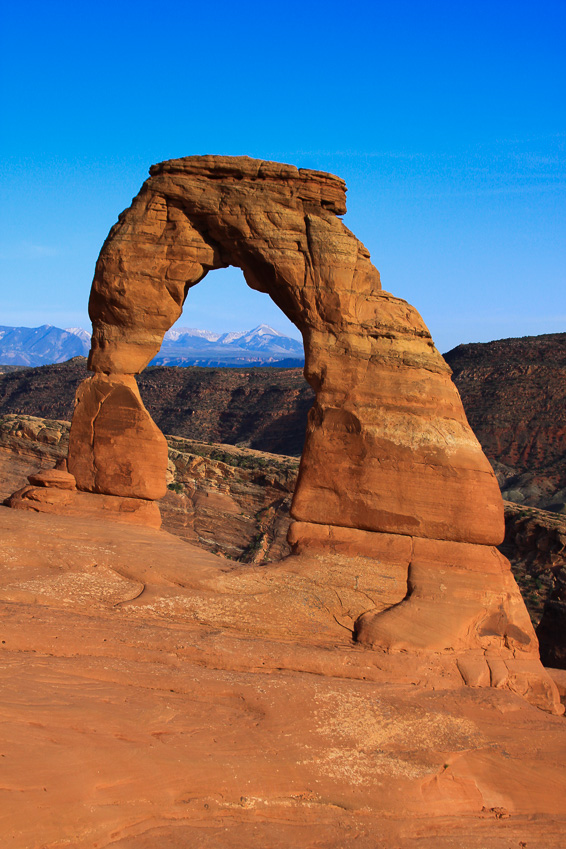
{"type": "Polygon", "coordinates": [[[564,719],[352,642],[399,569],[1,507],[0,557],[6,845],[563,845],[564,719]]]}

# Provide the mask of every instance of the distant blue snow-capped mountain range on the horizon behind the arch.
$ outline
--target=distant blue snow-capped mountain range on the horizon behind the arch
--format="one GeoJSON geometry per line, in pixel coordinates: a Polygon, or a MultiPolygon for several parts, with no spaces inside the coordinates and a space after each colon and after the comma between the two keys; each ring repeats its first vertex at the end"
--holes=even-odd
{"type": "MultiPolygon", "coordinates": [[[[0,326],[0,363],[4,366],[42,366],[86,356],[90,333],[81,327],[65,330],[0,326]]],[[[252,330],[214,333],[191,327],[168,330],[151,365],[168,366],[299,366],[302,342],[259,324],[252,330]]]]}

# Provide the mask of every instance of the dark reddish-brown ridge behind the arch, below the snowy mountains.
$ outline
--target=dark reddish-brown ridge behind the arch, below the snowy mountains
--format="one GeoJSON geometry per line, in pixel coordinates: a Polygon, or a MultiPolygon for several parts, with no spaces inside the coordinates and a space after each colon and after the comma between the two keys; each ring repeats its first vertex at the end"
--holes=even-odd
{"type": "MultiPolygon", "coordinates": [[[[444,359],[504,500],[566,510],[566,333],[459,345],[444,359]]],[[[71,419],[86,358],[0,374],[0,409],[71,419]]],[[[302,368],[150,367],[140,395],[163,433],[301,455],[314,392],[302,368]]],[[[566,515],[566,514],[565,514],[566,515]]]]}

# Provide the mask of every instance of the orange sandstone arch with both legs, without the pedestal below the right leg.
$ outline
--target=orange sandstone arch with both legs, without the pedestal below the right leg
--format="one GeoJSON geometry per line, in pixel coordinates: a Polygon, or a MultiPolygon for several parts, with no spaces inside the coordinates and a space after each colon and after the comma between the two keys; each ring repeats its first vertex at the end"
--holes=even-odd
{"type": "Polygon", "coordinates": [[[330,174],[247,157],[152,166],[96,266],[89,304],[96,374],[79,394],[69,452],[80,489],[158,497],[164,448],[127,376],[155,356],[190,287],[236,265],[301,331],[305,376],[316,391],[295,520],[500,541],[497,482],[448,366],[416,310],[381,289],[369,252],[340,220],[345,192],[330,174]],[[99,408],[114,408],[114,421],[130,429],[138,410],[145,447],[114,427],[112,456],[93,418],[99,408]],[[152,463],[142,468],[146,458],[152,463]]]}

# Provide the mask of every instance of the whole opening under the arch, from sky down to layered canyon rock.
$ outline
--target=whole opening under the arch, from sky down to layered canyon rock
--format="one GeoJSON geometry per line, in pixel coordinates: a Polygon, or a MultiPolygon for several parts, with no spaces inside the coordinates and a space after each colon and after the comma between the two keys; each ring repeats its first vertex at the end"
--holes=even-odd
{"type": "Polygon", "coordinates": [[[174,338],[165,334],[137,376],[169,446],[167,493],[158,502],[163,526],[213,554],[257,565],[290,553],[289,511],[314,400],[302,339],[270,337],[267,322],[288,331],[279,308],[239,269],[214,270],[191,287],[174,338]],[[240,343],[238,333],[256,322],[257,332],[240,343]],[[194,337],[185,326],[213,332],[194,337]],[[181,367],[161,371],[161,363],[181,367]]]}

